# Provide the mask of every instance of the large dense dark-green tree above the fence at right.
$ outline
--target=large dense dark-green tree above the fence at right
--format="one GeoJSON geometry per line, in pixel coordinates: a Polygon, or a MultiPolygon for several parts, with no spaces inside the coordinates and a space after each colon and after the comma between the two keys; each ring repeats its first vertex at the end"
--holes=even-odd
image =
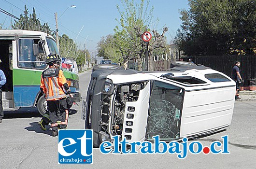
{"type": "Polygon", "coordinates": [[[175,44],[186,55],[253,54],[255,0],[188,0],[175,44]]]}

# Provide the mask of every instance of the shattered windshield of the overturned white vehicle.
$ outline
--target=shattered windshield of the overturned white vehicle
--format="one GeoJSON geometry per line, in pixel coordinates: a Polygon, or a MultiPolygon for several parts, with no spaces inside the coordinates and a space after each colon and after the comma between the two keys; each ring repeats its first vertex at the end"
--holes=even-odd
{"type": "Polygon", "coordinates": [[[172,84],[155,81],[150,96],[150,115],[147,139],[159,135],[161,140],[180,137],[180,119],[183,89],[172,84]]]}

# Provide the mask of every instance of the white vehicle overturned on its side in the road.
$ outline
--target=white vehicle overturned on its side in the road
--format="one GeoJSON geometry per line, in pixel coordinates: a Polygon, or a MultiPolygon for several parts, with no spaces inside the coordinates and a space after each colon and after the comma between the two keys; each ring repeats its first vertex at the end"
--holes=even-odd
{"type": "Polygon", "coordinates": [[[236,84],[204,66],[170,71],[99,69],[91,75],[82,118],[94,146],[123,140],[192,138],[230,126],[236,84]]]}

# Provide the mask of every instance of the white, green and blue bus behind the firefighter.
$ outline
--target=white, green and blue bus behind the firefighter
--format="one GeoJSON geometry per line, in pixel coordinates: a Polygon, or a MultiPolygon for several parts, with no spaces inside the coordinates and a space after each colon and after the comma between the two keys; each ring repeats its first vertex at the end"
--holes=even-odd
{"type": "MultiPolygon", "coordinates": [[[[4,110],[37,107],[42,115],[46,101],[40,92],[40,78],[47,69],[45,57],[59,55],[55,39],[44,32],[30,30],[0,30],[0,69],[7,82],[2,86],[4,110]]],[[[80,101],[79,77],[63,70],[75,101],[80,101]]]]}

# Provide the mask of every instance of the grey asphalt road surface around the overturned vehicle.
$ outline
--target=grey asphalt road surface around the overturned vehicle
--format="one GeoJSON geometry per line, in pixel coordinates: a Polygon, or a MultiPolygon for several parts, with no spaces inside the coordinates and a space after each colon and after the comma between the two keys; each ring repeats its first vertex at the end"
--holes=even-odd
{"type": "MultiPolygon", "coordinates": [[[[81,73],[80,91],[83,99],[90,81],[91,71],[81,73]]],[[[82,103],[72,107],[68,129],[84,129],[81,119],[82,103]]],[[[51,130],[42,131],[37,122],[41,117],[36,109],[5,112],[0,124],[0,169],[255,169],[256,168],[256,102],[236,102],[231,126],[228,130],[203,138],[203,145],[220,141],[228,135],[230,154],[188,154],[185,159],[177,155],[103,155],[94,149],[93,165],[59,165],[57,137],[51,130]]]]}

